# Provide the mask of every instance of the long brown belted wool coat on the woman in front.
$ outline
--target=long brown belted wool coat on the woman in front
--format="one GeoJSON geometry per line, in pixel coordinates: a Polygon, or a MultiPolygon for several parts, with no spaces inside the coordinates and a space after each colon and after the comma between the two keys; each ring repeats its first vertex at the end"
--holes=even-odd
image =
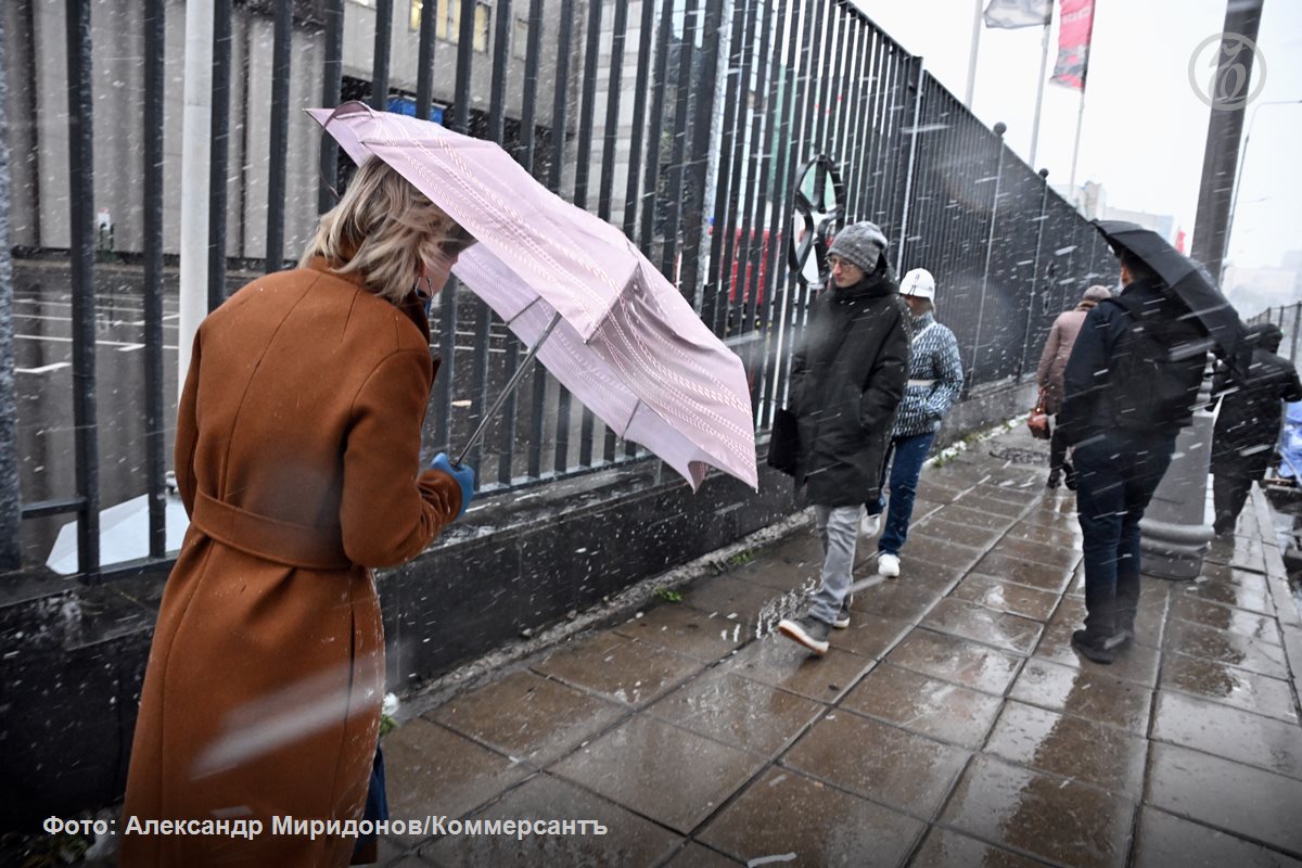
{"type": "Polygon", "coordinates": [[[141,694],[124,829],[255,817],[253,842],[125,835],[124,865],[342,865],[353,839],[272,817],[361,817],[384,631],[371,567],[461,510],[421,471],[434,364],[418,307],[312,268],[245,286],[199,327],[176,474],[190,528],[141,694]]]}

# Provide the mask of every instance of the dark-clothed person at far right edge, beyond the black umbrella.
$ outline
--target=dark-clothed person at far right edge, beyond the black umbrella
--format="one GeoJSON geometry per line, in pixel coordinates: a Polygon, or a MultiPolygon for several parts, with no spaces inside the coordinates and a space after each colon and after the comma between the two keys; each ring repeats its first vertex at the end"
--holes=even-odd
{"type": "Polygon", "coordinates": [[[1266,476],[1280,436],[1281,402],[1302,401],[1297,370],[1275,354],[1282,340],[1279,325],[1251,327],[1254,349],[1246,380],[1236,381],[1223,367],[1212,384],[1212,396],[1221,398],[1212,440],[1217,536],[1234,530],[1253,483],[1266,476]]]}

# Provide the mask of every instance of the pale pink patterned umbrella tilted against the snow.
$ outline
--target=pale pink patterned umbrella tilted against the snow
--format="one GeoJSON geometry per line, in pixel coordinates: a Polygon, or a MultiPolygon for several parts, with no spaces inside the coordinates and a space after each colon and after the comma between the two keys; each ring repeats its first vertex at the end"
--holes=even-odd
{"type": "Polygon", "coordinates": [[[354,163],[384,160],[478,239],[453,273],[617,435],[693,491],[707,465],[759,487],[741,359],[624,233],[492,142],[363,103],[309,112],[354,163]]]}

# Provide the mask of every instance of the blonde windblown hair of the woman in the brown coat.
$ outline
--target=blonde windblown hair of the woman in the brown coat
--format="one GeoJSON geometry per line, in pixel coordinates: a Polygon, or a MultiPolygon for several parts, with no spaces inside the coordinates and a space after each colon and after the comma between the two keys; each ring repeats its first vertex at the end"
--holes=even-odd
{"type": "Polygon", "coordinates": [[[370,157],[339,204],[322,215],[299,265],[324,256],[335,273],[355,273],[371,292],[397,305],[440,249],[450,252],[466,241],[473,243],[439,206],[388,163],[370,157]]]}

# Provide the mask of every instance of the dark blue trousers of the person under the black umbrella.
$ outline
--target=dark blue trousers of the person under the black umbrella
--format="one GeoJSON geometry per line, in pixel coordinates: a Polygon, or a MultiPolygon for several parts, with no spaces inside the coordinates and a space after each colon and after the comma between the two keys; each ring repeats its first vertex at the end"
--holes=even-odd
{"type": "Polygon", "coordinates": [[[1139,605],[1139,519],[1176,437],[1112,432],[1075,448],[1075,504],[1085,536],[1085,629],[1108,638],[1133,629],[1139,605]]]}

